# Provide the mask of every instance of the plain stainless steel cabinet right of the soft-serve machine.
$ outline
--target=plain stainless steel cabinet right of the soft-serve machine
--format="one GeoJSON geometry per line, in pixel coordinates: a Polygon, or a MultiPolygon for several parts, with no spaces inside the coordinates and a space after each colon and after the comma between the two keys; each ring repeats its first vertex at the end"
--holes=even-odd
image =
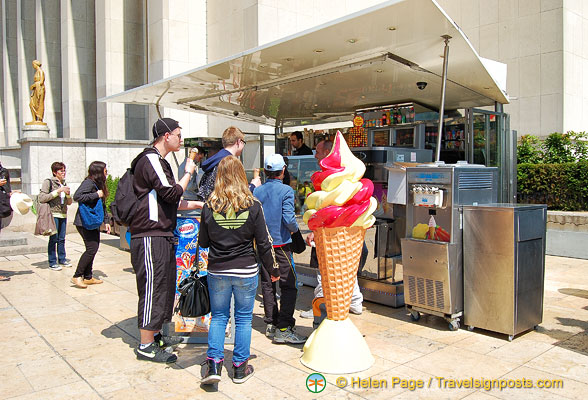
{"type": "Polygon", "coordinates": [[[464,206],[464,323],[514,335],[543,319],[547,207],[464,206]]]}

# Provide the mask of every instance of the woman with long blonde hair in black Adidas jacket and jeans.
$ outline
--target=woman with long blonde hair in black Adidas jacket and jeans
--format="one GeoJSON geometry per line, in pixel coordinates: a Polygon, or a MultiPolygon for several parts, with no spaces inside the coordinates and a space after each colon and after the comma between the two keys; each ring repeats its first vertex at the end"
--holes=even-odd
{"type": "Polygon", "coordinates": [[[214,190],[202,210],[198,241],[200,247],[209,248],[208,289],[212,313],[208,331],[208,371],[202,383],[213,384],[221,379],[225,329],[233,295],[233,382],[243,383],[253,374],[248,360],[259,273],[255,248],[272,277],[277,279],[279,270],[261,203],[251,194],[243,165],[235,156],[226,156],[218,164],[214,190]]]}

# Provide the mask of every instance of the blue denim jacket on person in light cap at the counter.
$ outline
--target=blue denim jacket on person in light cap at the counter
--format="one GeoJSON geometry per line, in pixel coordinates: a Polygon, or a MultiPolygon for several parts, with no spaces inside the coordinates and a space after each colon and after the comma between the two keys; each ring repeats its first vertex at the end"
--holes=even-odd
{"type": "Polygon", "coordinates": [[[274,246],[291,243],[290,232],[298,230],[294,214],[294,189],[279,179],[268,179],[255,188],[253,195],[261,201],[274,246]]]}

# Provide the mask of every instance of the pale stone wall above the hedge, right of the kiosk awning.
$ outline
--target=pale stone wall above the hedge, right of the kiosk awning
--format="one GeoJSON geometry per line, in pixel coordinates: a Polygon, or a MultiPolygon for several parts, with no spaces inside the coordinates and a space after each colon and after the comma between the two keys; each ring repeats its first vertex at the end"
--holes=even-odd
{"type": "MultiPolygon", "coordinates": [[[[582,96],[576,95],[574,104],[565,101],[569,95],[564,80],[581,71],[579,61],[576,64],[568,63],[570,57],[564,55],[565,47],[578,47],[578,40],[579,47],[582,47],[582,25],[579,18],[575,17],[578,14],[565,11],[570,2],[438,2],[466,33],[480,56],[507,64],[507,91],[511,102],[504,110],[511,115],[511,129],[518,131],[519,135],[545,136],[551,132],[572,129],[568,121],[582,118],[582,96]],[[570,34],[564,15],[577,21],[577,32],[570,34]]],[[[588,7],[588,2],[582,0],[571,3],[576,4],[576,11],[583,8],[583,3],[587,3],[584,7],[588,7]]],[[[581,91],[581,83],[575,89],[581,91]]],[[[588,95],[588,91],[586,93],[588,95]]]]}

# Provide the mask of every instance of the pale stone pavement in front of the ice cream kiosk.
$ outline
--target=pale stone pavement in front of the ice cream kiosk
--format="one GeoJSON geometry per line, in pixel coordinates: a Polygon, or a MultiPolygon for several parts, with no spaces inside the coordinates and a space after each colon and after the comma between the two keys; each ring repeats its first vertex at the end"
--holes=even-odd
{"type": "MultiPolygon", "coordinates": [[[[407,312],[372,303],[352,316],[376,359],[352,378],[385,379],[387,388],[335,386],[306,389],[312,372],[299,361],[301,346],[274,345],[263,335],[258,297],[253,318],[252,360],[255,375],[233,384],[223,371],[218,387],[201,388],[205,345],[182,345],[175,365],[137,361],[136,290],[130,255],[118,238],[102,236],[95,274],[102,285],[74,288],[72,269],[48,269],[46,255],[0,258],[0,398],[10,399],[286,399],[286,398],[586,398],[588,393],[588,261],[547,257],[543,323],[537,331],[508,342],[490,332],[447,330],[439,318],[414,323],[407,312]],[[439,389],[437,377],[469,379],[540,379],[563,381],[550,389],[439,389]],[[393,378],[422,379],[425,387],[392,388],[393,378]]],[[[67,236],[68,257],[77,263],[83,244],[67,236]]],[[[296,316],[309,308],[312,289],[303,287],[296,316]]],[[[310,334],[311,320],[298,319],[298,331],[310,334]]],[[[226,350],[227,364],[231,346],[226,350]]]]}

